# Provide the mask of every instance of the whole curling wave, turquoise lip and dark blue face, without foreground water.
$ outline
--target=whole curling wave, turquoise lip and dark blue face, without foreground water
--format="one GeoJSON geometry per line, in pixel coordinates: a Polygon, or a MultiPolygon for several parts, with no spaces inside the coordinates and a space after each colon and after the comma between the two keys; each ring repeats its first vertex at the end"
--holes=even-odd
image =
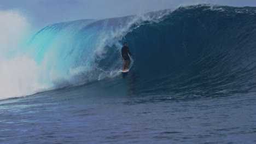
{"type": "Polygon", "coordinates": [[[37,83],[44,88],[117,79],[123,63],[120,49],[127,41],[135,56],[127,75],[136,79],[136,93],[248,93],[256,84],[255,11],[193,5],[139,16],[61,22],[33,34],[21,50],[33,60],[37,83]]]}

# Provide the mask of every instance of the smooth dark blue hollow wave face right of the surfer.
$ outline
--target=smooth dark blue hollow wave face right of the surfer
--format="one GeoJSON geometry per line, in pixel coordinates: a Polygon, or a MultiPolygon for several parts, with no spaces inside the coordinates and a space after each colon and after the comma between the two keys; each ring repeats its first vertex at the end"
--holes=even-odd
{"type": "MultiPolygon", "coordinates": [[[[126,35],[152,93],[211,97],[255,91],[256,8],[196,5],[126,35]]],[[[146,85],[146,86],[145,86],[146,85]]]]}

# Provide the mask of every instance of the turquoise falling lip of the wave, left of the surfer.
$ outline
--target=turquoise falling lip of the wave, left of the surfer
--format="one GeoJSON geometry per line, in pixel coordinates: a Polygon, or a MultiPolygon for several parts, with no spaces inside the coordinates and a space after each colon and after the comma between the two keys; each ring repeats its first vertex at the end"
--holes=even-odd
{"type": "Polygon", "coordinates": [[[120,74],[120,47],[128,32],[159,22],[170,10],[104,20],[61,22],[28,40],[25,53],[43,67],[42,83],[51,87],[80,85],[120,74]]]}

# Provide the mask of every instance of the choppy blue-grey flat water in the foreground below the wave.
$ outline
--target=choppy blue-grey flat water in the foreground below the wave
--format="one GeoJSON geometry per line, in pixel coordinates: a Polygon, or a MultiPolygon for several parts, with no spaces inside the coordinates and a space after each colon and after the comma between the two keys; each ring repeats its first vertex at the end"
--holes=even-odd
{"type": "Polygon", "coordinates": [[[256,142],[255,93],[179,100],[123,88],[92,83],[2,100],[0,142],[256,142]]]}

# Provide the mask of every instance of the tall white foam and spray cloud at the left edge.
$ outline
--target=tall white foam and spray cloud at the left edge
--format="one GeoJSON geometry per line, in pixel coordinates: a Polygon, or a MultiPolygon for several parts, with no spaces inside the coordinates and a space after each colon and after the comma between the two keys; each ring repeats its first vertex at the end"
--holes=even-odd
{"type": "Polygon", "coordinates": [[[0,19],[0,99],[46,88],[39,81],[39,66],[20,52],[22,39],[30,33],[26,18],[16,11],[0,11],[0,19]]]}

